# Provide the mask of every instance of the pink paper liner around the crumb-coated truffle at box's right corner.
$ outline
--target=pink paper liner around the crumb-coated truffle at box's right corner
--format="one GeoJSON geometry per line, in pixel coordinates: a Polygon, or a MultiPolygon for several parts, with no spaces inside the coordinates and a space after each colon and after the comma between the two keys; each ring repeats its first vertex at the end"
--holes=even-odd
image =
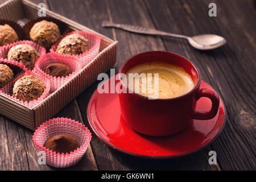
{"type": "MultiPolygon", "coordinates": [[[[92,61],[98,55],[98,52],[100,50],[101,38],[100,38],[100,36],[98,36],[96,34],[92,34],[90,32],[85,32],[85,31],[73,31],[73,32],[70,32],[70,33],[64,35],[63,38],[65,38],[65,36],[68,36],[71,34],[80,34],[80,35],[84,36],[85,39],[88,39],[89,50],[84,53],[81,53],[80,55],[72,55],[74,57],[77,57],[77,56],[81,57],[81,64],[82,64],[82,68],[83,68],[83,67],[85,67],[85,65],[90,63],[90,61],[92,61]]],[[[51,49],[49,49],[49,51],[55,52],[57,49],[57,46],[59,45],[60,41],[63,38],[61,38],[56,44],[54,44],[51,47],[51,49]]]]}

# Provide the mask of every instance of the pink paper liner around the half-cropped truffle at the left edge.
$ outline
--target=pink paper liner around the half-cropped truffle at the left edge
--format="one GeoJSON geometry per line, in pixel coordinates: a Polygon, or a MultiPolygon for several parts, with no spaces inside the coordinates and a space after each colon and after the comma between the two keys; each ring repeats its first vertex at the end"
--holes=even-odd
{"type": "MultiPolygon", "coordinates": [[[[20,74],[27,72],[27,68],[22,63],[18,63],[17,61],[0,59],[0,64],[7,65],[11,69],[11,71],[13,71],[14,79],[16,77],[18,77],[20,74]]],[[[7,84],[9,84],[9,83],[7,83],[7,84]]],[[[3,86],[5,86],[5,85],[3,85],[3,86]]],[[[0,89],[1,89],[1,86],[0,86],[0,89]]]]}

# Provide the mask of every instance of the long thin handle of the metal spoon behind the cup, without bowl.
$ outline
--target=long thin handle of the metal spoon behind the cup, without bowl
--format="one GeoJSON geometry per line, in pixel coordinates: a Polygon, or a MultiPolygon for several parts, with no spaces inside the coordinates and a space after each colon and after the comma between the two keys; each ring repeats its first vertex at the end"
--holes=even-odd
{"type": "Polygon", "coordinates": [[[129,25],[129,24],[111,23],[111,22],[108,22],[108,21],[103,21],[101,26],[102,27],[120,28],[122,30],[135,32],[135,33],[138,33],[138,34],[163,35],[163,36],[172,36],[172,37],[175,37],[175,38],[183,38],[183,39],[188,38],[188,36],[185,36],[185,35],[171,34],[171,33],[168,33],[168,32],[154,30],[154,29],[151,29],[151,28],[138,27],[138,26],[133,26],[133,25],[129,25]]]}

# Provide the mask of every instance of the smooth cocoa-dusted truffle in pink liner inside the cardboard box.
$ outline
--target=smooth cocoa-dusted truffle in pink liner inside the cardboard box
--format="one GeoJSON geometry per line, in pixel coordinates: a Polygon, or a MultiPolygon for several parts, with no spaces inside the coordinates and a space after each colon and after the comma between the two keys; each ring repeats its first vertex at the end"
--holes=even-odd
{"type": "Polygon", "coordinates": [[[72,73],[72,70],[71,68],[69,68],[68,65],[55,63],[48,65],[48,67],[46,68],[46,73],[48,75],[51,75],[52,77],[65,77],[70,75],[72,73]]]}

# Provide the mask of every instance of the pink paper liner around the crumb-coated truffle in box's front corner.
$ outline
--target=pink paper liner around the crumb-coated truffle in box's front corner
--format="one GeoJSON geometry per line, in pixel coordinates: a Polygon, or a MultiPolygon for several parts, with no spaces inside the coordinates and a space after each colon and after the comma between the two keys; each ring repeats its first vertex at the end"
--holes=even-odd
{"type": "Polygon", "coordinates": [[[17,76],[13,81],[9,82],[9,84],[3,86],[3,88],[0,89],[0,94],[4,95],[5,97],[7,97],[11,100],[14,100],[14,101],[18,102],[19,104],[21,104],[23,106],[26,106],[26,107],[32,109],[36,105],[38,105],[40,102],[42,102],[44,100],[44,98],[49,96],[50,88],[51,88],[51,83],[46,77],[44,77],[43,75],[40,75],[38,73],[33,73],[31,71],[27,71],[27,72],[17,76]],[[21,78],[25,75],[33,75],[33,76],[39,78],[40,80],[42,80],[44,82],[44,85],[46,85],[46,89],[44,90],[42,96],[39,97],[37,100],[33,100],[33,101],[30,101],[30,102],[27,102],[27,101],[23,102],[23,101],[20,101],[18,98],[15,98],[15,97],[12,96],[13,95],[13,86],[14,86],[15,82],[17,80],[19,80],[19,78],[21,78]]]}

